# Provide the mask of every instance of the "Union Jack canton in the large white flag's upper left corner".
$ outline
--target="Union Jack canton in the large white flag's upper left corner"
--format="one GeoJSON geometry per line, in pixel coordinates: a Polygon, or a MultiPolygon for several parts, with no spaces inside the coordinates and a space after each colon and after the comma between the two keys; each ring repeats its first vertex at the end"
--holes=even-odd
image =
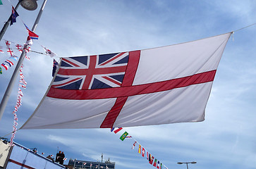
{"type": "Polygon", "coordinates": [[[62,58],[52,84],[59,89],[104,89],[121,87],[128,52],[62,58]]]}

